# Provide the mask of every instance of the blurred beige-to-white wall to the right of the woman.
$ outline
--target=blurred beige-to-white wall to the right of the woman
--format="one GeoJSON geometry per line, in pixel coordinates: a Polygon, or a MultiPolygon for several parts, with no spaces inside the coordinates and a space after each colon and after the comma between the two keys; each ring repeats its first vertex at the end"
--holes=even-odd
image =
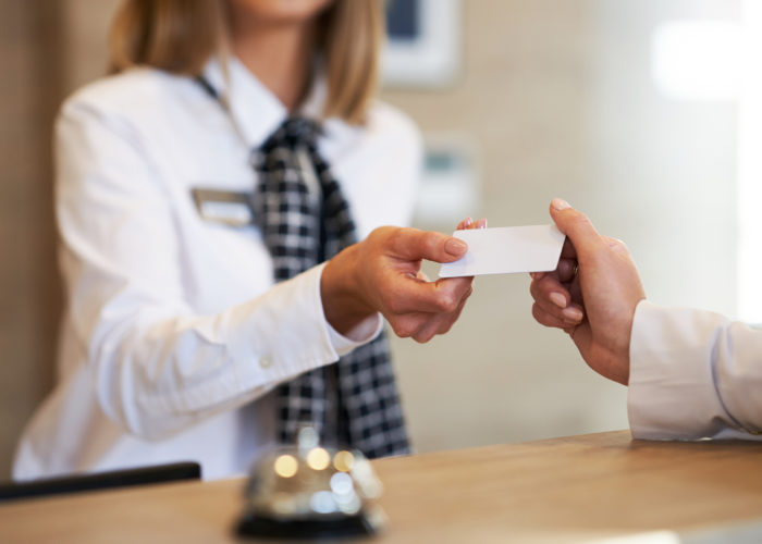
{"type": "MultiPolygon", "coordinates": [[[[551,198],[563,196],[627,240],[654,301],[732,313],[734,104],[663,97],[650,39],[666,21],[737,17],[738,2],[463,4],[458,83],[384,96],[425,132],[465,132],[478,143],[482,206],[474,214],[492,226],[544,223],[551,198]]],[[[528,284],[479,277],[447,336],[395,343],[421,450],[627,426],[626,390],[588,370],[564,334],[533,323],[528,284]]]]}

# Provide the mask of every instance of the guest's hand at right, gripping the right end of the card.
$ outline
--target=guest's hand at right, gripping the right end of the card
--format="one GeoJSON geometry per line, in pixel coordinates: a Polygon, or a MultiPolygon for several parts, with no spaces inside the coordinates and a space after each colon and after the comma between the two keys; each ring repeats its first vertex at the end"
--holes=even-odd
{"type": "Polygon", "coordinates": [[[532,274],[532,314],[569,333],[595,372],[626,385],[635,309],[646,298],[635,263],[624,243],[598,234],[565,201],[553,200],[551,217],[567,240],[554,272],[532,274]]]}

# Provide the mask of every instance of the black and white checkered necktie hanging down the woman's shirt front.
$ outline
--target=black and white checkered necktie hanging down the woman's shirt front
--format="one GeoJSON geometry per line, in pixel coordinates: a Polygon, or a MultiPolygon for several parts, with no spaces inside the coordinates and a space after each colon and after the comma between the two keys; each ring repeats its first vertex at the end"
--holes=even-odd
{"type": "MultiPolygon", "coordinates": [[[[255,222],[272,256],[275,281],[288,280],[357,242],[341,187],[317,149],[320,127],[290,118],[253,152],[258,172],[255,222]]],[[[407,433],[383,334],[335,364],[278,387],[278,430],[284,444],[312,425],[323,444],[366,456],[408,452],[407,433]]]]}

